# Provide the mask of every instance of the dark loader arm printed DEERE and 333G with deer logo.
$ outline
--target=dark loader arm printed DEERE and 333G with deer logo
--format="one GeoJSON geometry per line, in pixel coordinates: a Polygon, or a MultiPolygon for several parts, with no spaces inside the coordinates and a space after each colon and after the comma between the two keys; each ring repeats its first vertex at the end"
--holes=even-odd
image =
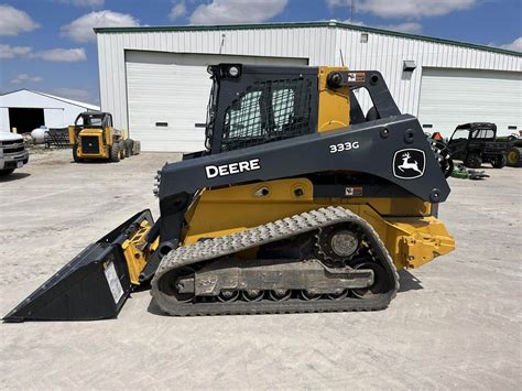
{"type": "Polygon", "coordinates": [[[161,172],[159,192],[163,251],[177,247],[185,211],[194,194],[202,188],[335,171],[370,174],[431,203],[444,202],[449,194],[418,121],[402,115],[349,129],[166,164],[161,172]],[[407,151],[411,156],[420,156],[418,162],[402,158],[410,164],[404,166],[403,163],[400,167],[399,158],[407,151]],[[404,177],[400,170],[406,172],[413,163],[422,169],[421,174],[414,172],[415,175],[404,177]]]}

